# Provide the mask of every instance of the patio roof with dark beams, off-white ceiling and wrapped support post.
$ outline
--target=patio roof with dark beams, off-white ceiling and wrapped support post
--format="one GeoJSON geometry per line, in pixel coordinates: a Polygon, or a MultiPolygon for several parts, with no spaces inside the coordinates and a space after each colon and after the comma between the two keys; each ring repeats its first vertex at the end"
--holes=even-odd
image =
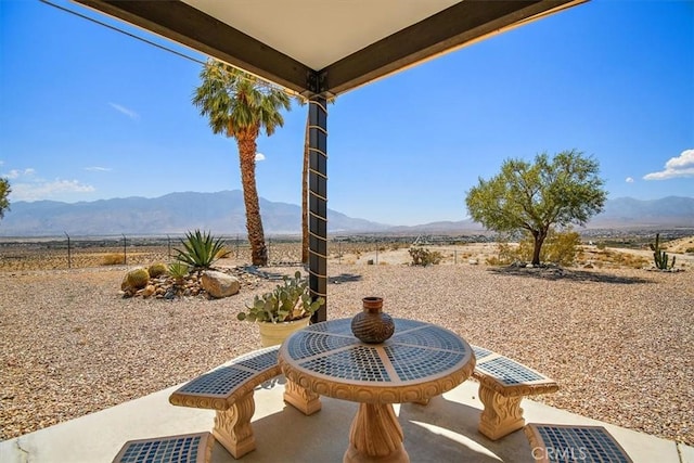
{"type": "Polygon", "coordinates": [[[327,99],[588,0],[73,1],[309,100],[309,286],[327,300],[327,99]]]}

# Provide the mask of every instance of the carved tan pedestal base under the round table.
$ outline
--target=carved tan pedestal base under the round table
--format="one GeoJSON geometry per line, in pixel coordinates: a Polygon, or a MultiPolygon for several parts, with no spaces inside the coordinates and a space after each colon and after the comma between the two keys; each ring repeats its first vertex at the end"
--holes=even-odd
{"type": "Polygon", "coordinates": [[[360,403],[344,463],[409,463],[402,428],[390,403],[360,403]]]}

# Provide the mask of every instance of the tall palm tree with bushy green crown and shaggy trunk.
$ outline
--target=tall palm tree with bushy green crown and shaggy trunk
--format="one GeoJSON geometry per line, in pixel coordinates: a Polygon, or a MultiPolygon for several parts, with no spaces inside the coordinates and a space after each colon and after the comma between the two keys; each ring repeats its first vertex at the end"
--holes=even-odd
{"type": "Polygon", "coordinates": [[[246,230],[254,266],[268,263],[260,203],[256,188],[256,140],[265,129],[269,137],[284,125],[280,110],[290,110],[290,97],[282,90],[243,70],[209,60],[200,74],[193,104],[209,118],[214,133],[236,139],[241,164],[246,230]]]}

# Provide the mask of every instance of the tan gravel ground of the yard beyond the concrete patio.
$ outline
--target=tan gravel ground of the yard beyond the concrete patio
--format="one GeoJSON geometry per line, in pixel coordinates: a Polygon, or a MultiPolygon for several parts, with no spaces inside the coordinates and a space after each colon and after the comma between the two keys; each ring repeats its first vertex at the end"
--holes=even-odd
{"type": "MultiPolygon", "coordinates": [[[[329,270],[331,319],[382,296],[394,317],[440,324],[560,383],[537,400],[694,445],[692,270],[329,270]]],[[[236,312],[275,282],[220,300],[124,299],[124,272],[0,273],[0,439],[185,382],[260,346],[236,312]]]]}

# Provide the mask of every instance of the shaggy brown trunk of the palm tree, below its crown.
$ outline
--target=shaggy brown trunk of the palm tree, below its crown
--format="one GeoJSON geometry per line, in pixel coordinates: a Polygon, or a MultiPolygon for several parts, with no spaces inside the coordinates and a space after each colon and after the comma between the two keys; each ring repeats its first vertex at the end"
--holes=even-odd
{"type": "Polygon", "coordinates": [[[246,230],[250,243],[250,260],[254,266],[268,265],[268,249],[265,245],[262,220],[260,218],[260,202],[256,188],[256,139],[258,128],[249,128],[245,133],[239,133],[239,159],[241,162],[241,184],[243,187],[243,202],[246,206],[246,230]]]}

